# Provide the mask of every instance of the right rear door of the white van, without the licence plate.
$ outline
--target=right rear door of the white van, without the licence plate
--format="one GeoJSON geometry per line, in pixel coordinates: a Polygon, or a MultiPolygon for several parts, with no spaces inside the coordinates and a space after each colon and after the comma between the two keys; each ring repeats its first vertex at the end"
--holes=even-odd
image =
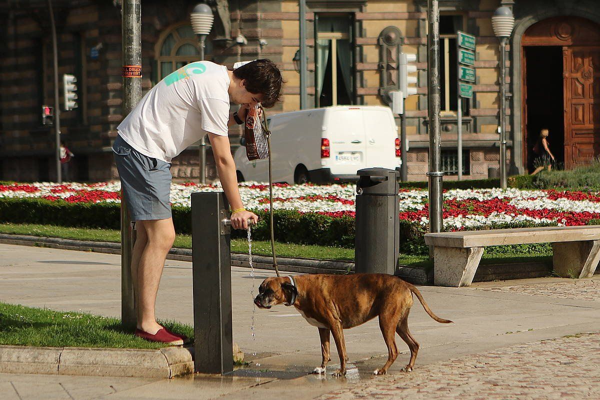
{"type": "Polygon", "coordinates": [[[394,117],[389,110],[382,108],[365,108],[362,110],[366,136],[367,168],[382,167],[395,169],[400,166],[400,158],[395,157],[394,140],[398,131],[394,117]]]}

